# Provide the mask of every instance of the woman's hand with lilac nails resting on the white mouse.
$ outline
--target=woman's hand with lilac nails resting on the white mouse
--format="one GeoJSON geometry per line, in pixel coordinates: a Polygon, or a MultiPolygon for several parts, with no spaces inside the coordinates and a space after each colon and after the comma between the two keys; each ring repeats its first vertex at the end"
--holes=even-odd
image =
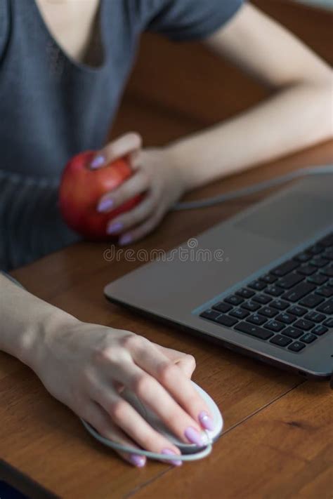
{"type": "MultiPolygon", "coordinates": [[[[70,319],[39,342],[34,371],[55,398],[90,423],[103,437],[155,453],[179,449],[154,430],[122,398],[124,387],[149,406],[178,439],[204,445],[212,429],[209,409],[190,377],[195,359],[160,347],[129,331],[70,319]]],[[[142,467],[145,456],[119,451],[142,467]]]]}

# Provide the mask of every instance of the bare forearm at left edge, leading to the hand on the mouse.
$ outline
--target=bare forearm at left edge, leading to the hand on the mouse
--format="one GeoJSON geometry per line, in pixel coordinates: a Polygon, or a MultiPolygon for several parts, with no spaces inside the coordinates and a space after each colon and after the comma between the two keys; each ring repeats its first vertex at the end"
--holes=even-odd
{"type": "Polygon", "coordinates": [[[74,317],[0,275],[0,350],[34,368],[41,345],[74,317]]]}

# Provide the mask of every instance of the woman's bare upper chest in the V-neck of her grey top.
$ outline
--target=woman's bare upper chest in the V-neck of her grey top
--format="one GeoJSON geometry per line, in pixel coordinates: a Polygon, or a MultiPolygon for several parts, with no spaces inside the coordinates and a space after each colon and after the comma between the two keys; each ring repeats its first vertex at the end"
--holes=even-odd
{"type": "Polygon", "coordinates": [[[83,62],[98,28],[100,0],[35,0],[48,31],[70,58],[83,62]]]}

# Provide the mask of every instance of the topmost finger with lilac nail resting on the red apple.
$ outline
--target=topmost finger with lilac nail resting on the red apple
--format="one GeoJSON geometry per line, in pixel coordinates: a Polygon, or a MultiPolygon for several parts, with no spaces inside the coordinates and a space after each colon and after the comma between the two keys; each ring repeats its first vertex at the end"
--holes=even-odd
{"type": "Polygon", "coordinates": [[[105,145],[100,151],[96,152],[90,167],[93,170],[103,168],[103,166],[112,163],[112,161],[115,161],[116,159],[133,154],[138,151],[141,146],[141,135],[136,132],[125,133],[116,140],[109,142],[109,144],[105,145]]]}

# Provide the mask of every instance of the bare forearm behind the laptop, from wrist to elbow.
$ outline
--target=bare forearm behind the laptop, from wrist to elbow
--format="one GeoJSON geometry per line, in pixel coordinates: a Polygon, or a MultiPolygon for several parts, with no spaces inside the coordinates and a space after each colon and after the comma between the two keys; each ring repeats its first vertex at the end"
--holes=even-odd
{"type": "Polygon", "coordinates": [[[166,150],[188,189],[332,137],[332,86],[298,84],[166,150]]]}

